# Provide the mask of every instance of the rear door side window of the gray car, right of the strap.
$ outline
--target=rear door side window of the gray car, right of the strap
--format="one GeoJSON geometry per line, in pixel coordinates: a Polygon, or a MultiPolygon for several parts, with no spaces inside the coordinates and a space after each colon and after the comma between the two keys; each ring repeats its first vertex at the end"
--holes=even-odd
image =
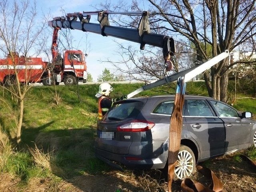
{"type": "Polygon", "coordinates": [[[214,116],[206,100],[188,100],[189,116],[214,116]]]}

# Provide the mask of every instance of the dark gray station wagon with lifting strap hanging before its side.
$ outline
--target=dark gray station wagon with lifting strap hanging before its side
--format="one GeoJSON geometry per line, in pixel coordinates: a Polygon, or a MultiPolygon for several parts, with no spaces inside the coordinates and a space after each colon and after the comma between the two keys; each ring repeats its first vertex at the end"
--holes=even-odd
{"type": "MultiPolygon", "coordinates": [[[[173,104],[172,95],[116,102],[98,122],[96,156],[116,168],[164,168],[173,104]]],[[[186,95],[176,178],[190,176],[197,162],[256,146],[251,116],[212,98],[186,95]]]]}

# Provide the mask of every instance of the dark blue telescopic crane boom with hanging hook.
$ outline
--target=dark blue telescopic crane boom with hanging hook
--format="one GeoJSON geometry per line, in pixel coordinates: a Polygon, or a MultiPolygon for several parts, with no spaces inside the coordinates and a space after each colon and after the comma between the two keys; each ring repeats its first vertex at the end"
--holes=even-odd
{"type": "MultiPolygon", "coordinates": [[[[175,44],[173,38],[160,34],[150,33],[148,22],[149,12],[142,12],[142,18],[138,29],[110,26],[108,21],[108,12],[88,12],[97,13],[100,24],[90,23],[90,15],[87,12],[68,13],[66,17],[55,17],[48,21],[48,25],[53,28],[70,28],[102,34],[102,36],[112,36],[124,40],[140,43],[140,49],[144,50],[145,44],[162,48],[166,70],[171,70],[171,56],[175,53],[175,44]],[[80,21],[77,21],[79,18],[80,21]]],[[[112,14],[112,13],[111,13],[112,14]]]]}

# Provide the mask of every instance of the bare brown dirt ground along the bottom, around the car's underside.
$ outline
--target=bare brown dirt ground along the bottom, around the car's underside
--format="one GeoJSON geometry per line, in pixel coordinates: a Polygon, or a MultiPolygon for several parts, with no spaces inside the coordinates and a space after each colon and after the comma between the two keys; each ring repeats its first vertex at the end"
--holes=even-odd
{"type": "MultiPolygon", "coordinates": [[[[202,164],[210,168],[222,181],[222,192],[256,192],[256,168],[251,162],[237,162],[234,155],[207,161],[202,164]]],[[[211,182],[196,172],[192,176],[205,186],[211,182]]],[[[160,170],[127,171],[112,170],[102,174],[84,174],[69,179],[56,181],[56,178],[33,178],[25,188],[18,188],[19,180],[8,174],[0,175],[1,192],[165,192],[167,183],[164,182],[160,170]]],[[[180,182],[172,183],[172,192],[181,192],[180,182]]]]}

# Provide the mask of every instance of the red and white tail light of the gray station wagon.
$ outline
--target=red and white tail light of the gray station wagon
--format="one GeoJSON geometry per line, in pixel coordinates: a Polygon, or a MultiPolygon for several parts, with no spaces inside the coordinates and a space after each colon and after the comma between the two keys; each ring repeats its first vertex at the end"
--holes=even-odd
{"type": "Polygon", "coordinates": [[[140,132],[148,131],[154,127],[154,123],[146,120],[134,120],[124,125],[118,126],[117,131],[119,132],[140,132]]]}

